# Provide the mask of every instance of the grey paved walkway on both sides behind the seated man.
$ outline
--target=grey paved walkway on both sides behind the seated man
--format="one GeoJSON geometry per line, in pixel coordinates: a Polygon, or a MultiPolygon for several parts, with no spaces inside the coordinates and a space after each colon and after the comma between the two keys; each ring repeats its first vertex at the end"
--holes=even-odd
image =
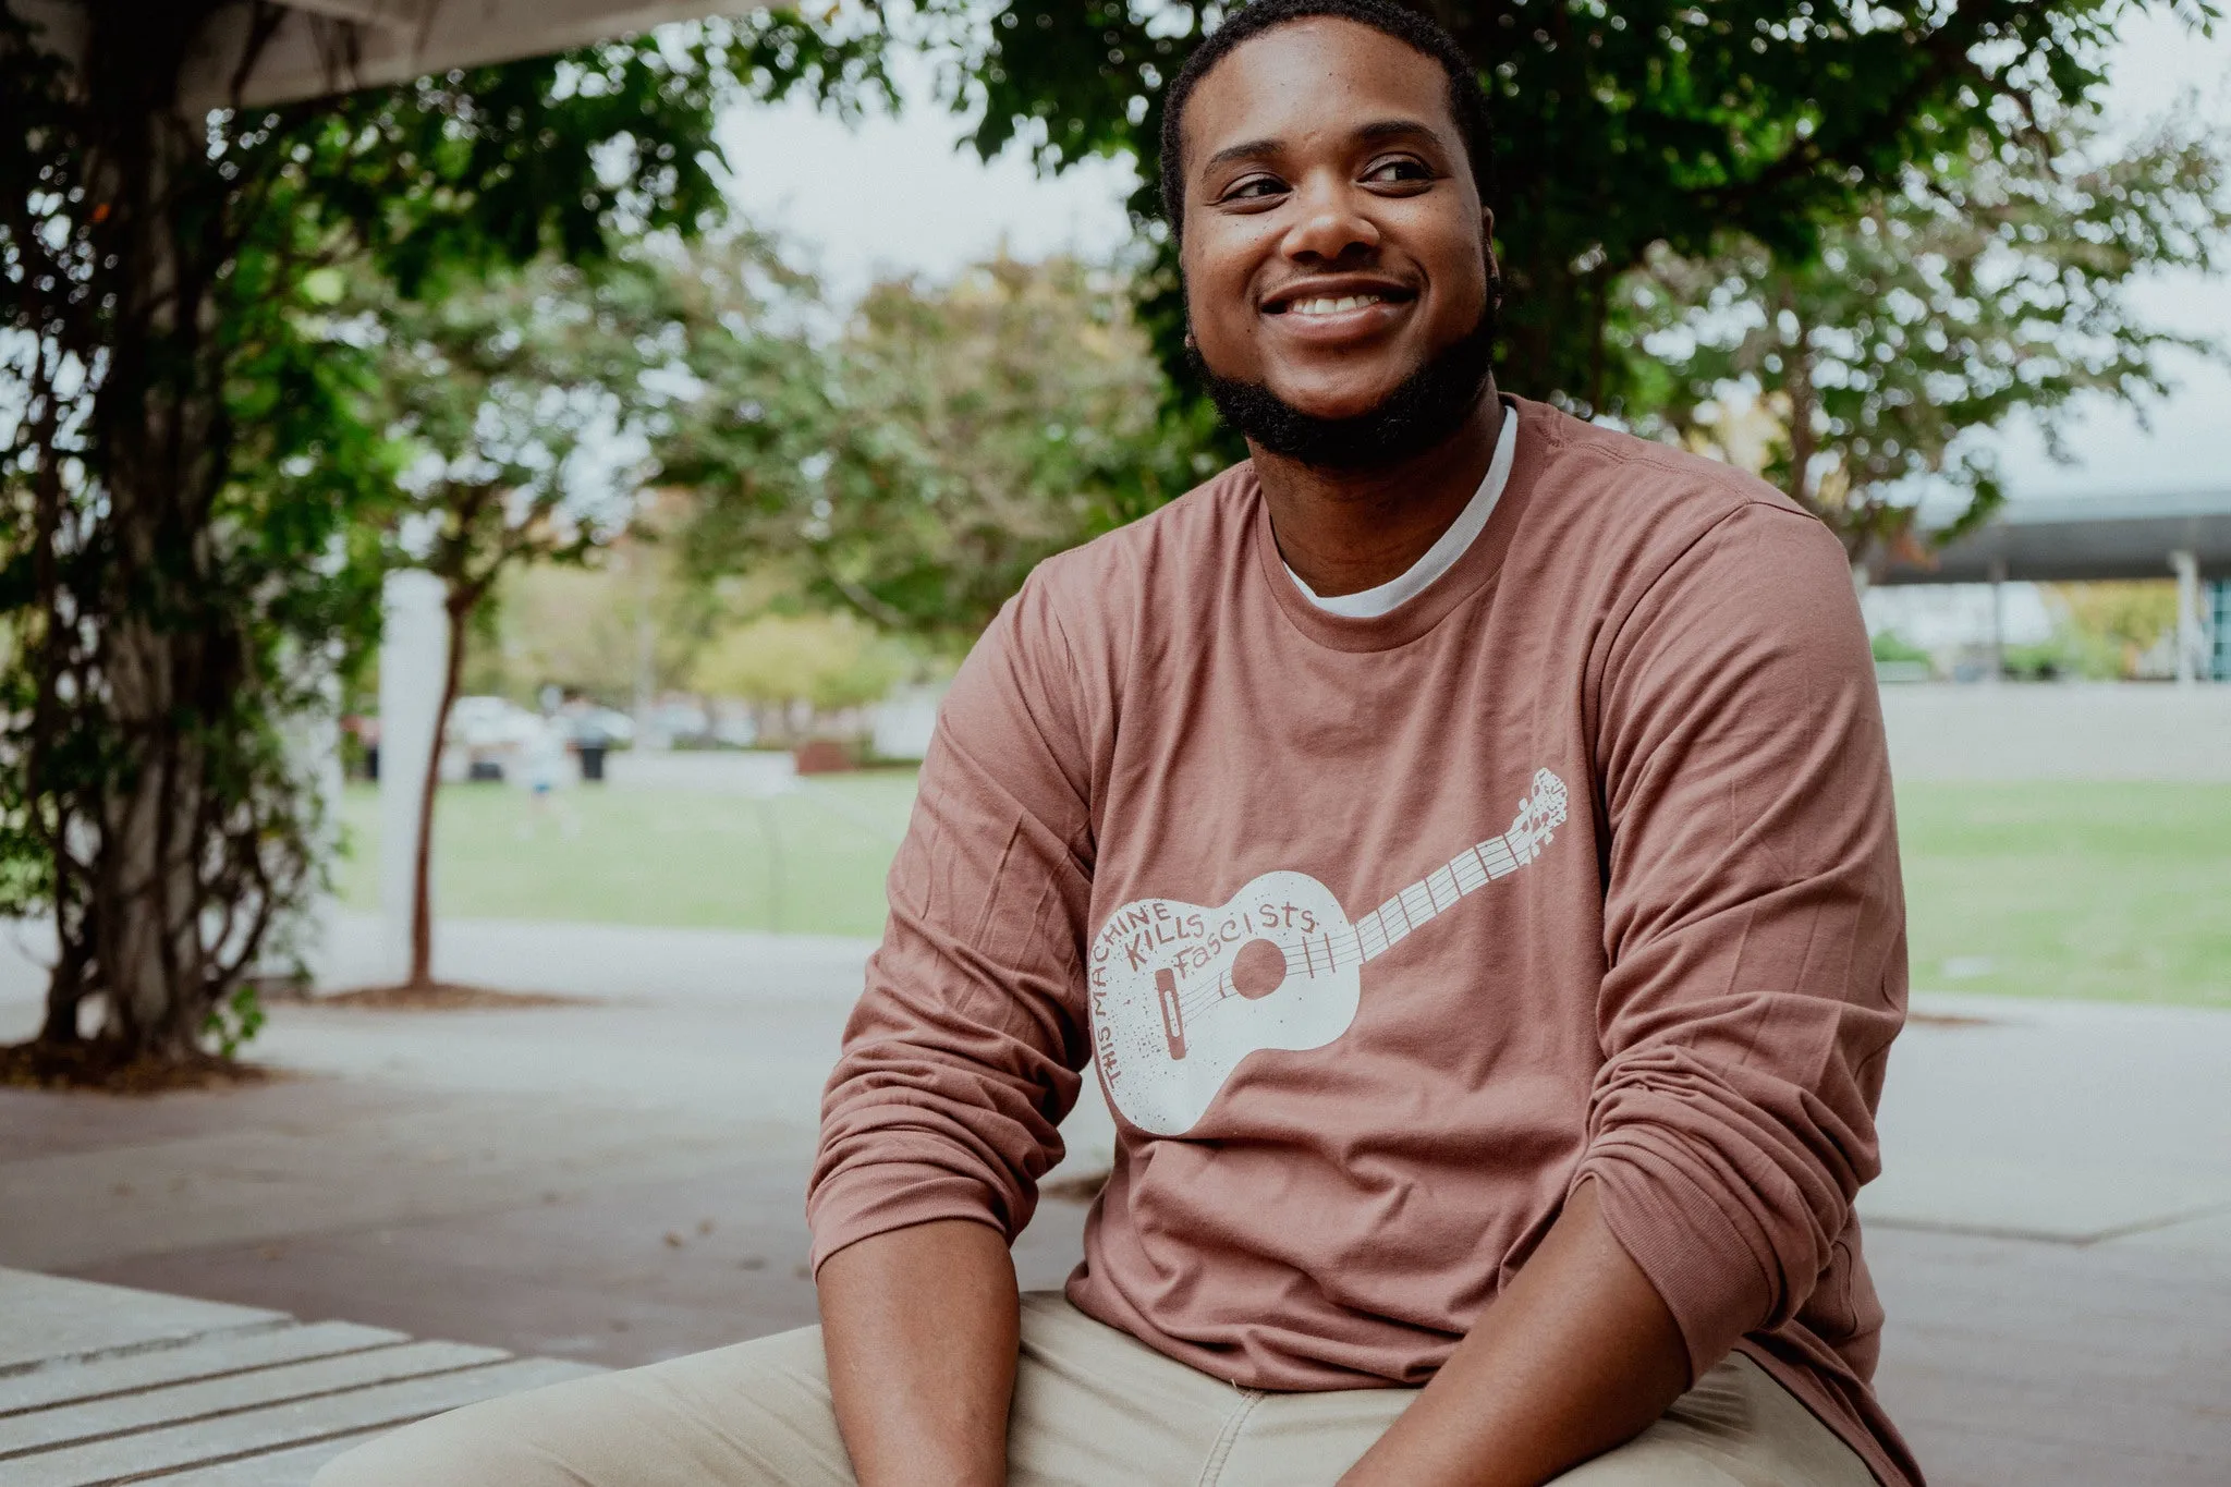
{"type": "MultiPolygon", "coordinates": [[[[348,979],[368,945],[337,950],[348,979]]],[[[281,1005],[259,1054],[299,1079],[0,1092],[0,1264],[598,1364],[810,1322],[799,1197],[863,952],[446,925],[444,976],[598,1001],[281,1005]]],[[[1916,1005],[1941,1021],[1892,1059],[1861,1206],[1881,1389],[1932,1480],[2222,1487],[2231,1014],[1916,1005]]],[[[0,952],[0,1039],[33,1023],[0,952]]],[[[1069,1170],[1104,1164],[1104,1121],[1069,1170]]],[[[1082,1219],[1042,1206],[1026,1284],[1060,1282],[1082,1219]]]]}

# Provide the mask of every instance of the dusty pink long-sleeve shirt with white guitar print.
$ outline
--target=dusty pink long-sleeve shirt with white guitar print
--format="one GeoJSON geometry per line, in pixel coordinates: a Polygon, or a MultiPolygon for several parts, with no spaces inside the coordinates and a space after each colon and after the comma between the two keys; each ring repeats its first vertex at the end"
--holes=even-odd
{"type": "Polygon", "coordinates": [[[1905,916],[1843,551],[1515,406],[1486,531],[1392,613],[1296,591],[1249,466],[999,613],[823,1101],[814,1262],[1013,1237],[1098,1077],[1069,1298],[1171,1358],[1421,1384],[1593,1177],[1693,1373],[1742,1349],[1916,1485],[1852,1213],[1905,916]]]}

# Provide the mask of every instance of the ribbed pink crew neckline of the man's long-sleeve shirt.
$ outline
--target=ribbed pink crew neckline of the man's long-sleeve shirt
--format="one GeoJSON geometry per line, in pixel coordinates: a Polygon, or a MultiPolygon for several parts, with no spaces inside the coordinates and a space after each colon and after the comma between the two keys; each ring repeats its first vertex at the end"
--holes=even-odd
{"type": "MultiPolygon", "coordinates": [[[[1285,557],[1278,553],[1278,535],[1272,531],[1263,484],[1256,479],[1254,468],[1247,468],[1247,482],[1254,486],[1256,566],[1269,589],[1272,602],[1303,638],[1332,651],[1392,651],[1428,633],[1448,611],[1493,582],[1501,568],[1504,553],[1510,551],[1513,531],[1524,519],[1526,506],[1533,499],[1533,486],[1553,446],[1559,444],[1559,415],[1555,408],[1524,397],[1504,397],[1501,401],[1504,417],[1515,421],[1519,433],[1513,435],[1510,475],[1481,533],[1457,555],[1446,573],[1383,615],[1361,620],[1336,615],[1319,609],[1301,593],[1301,586],[1287,573],[1285,557]]],[[[1499,446],[1501,435],[1497,435],[1499,446]]]]}

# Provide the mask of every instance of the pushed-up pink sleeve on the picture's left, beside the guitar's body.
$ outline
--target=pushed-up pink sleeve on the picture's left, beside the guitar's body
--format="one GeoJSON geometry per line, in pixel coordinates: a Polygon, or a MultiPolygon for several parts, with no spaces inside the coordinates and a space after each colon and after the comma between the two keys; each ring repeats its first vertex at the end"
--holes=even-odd
{"type": "Polygon", "coordinates": [[[973,1219],[1013,1240],[1078,1099],[1091,887],[1078,684],[1033,580],[937,716],[890,919],[821,1099],[812,1264],[872,1235],[973,1219]]]}

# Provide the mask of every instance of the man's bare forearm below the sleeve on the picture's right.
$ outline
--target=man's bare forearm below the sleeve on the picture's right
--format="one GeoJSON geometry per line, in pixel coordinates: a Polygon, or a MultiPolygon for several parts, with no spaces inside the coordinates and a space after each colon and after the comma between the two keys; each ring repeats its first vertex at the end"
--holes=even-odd
{"type": "Polygon", "coordinates": [[[1341,1487],[1539,1487],[1638,1436],[1687,1387],[1673,1313],[1584,1182],[1510,1289],[1341,1487]]]}

